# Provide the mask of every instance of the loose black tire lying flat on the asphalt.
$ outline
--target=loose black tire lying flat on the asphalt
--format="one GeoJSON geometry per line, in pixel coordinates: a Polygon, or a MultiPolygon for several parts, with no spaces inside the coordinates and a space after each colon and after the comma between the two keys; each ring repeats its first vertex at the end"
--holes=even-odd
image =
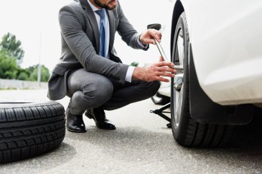
{"type": "Polygon", "coordinates": [[[57,148],[65,137],[65,122],[59,102],[0,103],[0,163],[57,148]]]}

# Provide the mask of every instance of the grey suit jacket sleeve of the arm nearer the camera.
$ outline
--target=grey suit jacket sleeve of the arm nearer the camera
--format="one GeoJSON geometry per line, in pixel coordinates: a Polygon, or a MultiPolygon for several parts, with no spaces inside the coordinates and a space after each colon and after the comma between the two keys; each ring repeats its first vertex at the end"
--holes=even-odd
{"type": "Polygon", "coordinates": [[[68,47],[87,72],[115,78],[123,83],[125,74],[128,71],[128,65],[115,63],[99,56],[95,52],[92,42],[83,31],[85,23],[83,20],[81,12],[77,12],[70,6],[64,6],[59,11],[61,34],[68,47]]]}

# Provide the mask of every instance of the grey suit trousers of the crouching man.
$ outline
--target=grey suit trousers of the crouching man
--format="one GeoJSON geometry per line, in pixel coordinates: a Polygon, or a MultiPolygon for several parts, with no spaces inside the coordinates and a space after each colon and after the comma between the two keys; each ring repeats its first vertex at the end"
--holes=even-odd
{"type": "Polygon", "coordinates": [[[118,109],[154,96],[160,87],[159,81],[132,80],[132,83],[122,84],[85,69],[71,72],[67,85],[67,96],[71,98],[68,107],[74,115],[82,115],[86,109],[97,107],[118,109]]]}

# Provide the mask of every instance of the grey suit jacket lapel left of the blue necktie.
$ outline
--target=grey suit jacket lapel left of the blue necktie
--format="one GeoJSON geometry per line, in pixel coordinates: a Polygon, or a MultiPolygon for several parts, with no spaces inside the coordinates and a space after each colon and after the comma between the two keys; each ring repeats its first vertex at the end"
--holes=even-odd
{"type": "MultiPolygon", "coordinates": [[[[79,0],[81,3],[81,6],[83,7],[83,10],[85,11],[85,14],[90,21],[90,24],[92,26],[93,32],[94,32],[94,39],[95,39],[95,44],[97,45],[97,54],[99,54],[99,49],[100,49],[100,34],[99,34],[99,28],[97,25],[97,19],[94,16],[94,12],[92,8],[90,7],[89,3],[87,0],[79,0]]],[[[111,36],[111,33],[110,33],[111,36]]]]}

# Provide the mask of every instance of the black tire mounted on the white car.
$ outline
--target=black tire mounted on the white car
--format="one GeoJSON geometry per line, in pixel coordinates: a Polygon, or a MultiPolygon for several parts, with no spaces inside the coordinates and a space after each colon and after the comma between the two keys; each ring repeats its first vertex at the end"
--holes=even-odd
{"type": "MultiPolygon", "coordinates": [[[[236,126],[220,124],[203,124],[196,122],[190,115],[190,96],[189,96],[189,64],[188,47],[189,34],[188,25],[185,18],[185,12],[179,17],[177,28],[174,34],[174,48],[172,62],[181,65],[179,59],[179,42],[183,41],[183,85],[181,91],[174,89],[174,78],[171,80],[171,124],[174,139],[183,146],[203,146],[217,147],[225,146],[232,140],[235,134],[236,126]],[[182,33],[182,34],[181,34],[182,33]],[[181,36],[182,39],[181,39],[181,36]],[[180,37],[180,38],[179,38],[180,37]],[[176,97],[178,97],[176,102],[176,97]],[[177,96],[176,96],[177,95],[177,96]],[[177,113],[177,115],[176,115],[177,113]]],[[[181,42],[180,42],[181,43],[181,42]]],[[[181,55],[181,54],[180,54],[181,55]]],[[[199,108],[205,109],[205,108],[199,108]]]]}

